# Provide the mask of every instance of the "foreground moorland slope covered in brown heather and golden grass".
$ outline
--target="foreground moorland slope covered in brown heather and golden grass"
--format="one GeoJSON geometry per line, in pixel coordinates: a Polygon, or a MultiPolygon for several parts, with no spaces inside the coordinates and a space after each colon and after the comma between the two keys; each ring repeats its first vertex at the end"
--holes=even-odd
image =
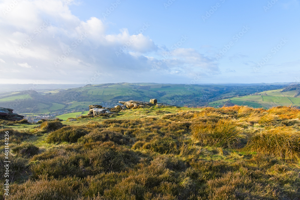
{"type": "Polygon", "coordinates": [[[155,106],[38,125],[0,121],[11,149],[5,199],[298,199],[299,118],[291,107],[155,106]]]}

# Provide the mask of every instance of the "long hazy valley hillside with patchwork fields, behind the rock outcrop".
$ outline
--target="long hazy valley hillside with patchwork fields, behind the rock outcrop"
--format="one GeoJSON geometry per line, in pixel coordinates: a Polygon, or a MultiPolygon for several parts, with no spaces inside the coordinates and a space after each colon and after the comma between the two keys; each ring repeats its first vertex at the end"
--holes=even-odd
{"type": "MultiPolygon", "coordinates": [[[[9,107],[27,116],[57,116],[68,112],[87,111],[88,105],[105,107],[118,105],[118,101],[158,99],[160,103],[176,106],[205,106],[219,98],[250,95],[284,85],[184,85],[156,83],[116,83],[86,85],[79,88],[56,88],[46,91],[0,93],[0,106],[9,107]]],[[[46,86],[44,86],[46,87],[46,86]]],[[[50,87],[50,86],[49,86],[50,87]]]]}

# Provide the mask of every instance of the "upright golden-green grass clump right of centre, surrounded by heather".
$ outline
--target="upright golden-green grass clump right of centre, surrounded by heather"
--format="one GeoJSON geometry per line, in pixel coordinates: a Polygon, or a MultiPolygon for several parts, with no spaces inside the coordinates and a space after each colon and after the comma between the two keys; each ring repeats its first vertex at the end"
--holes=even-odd
{"type": "Polygon", "coordinates": [[[216,124],[199,123],[191,127],[193,138],[202,145],[235,148],[239,142],[238,130],[230,119],[220,119],[216,124]]]}

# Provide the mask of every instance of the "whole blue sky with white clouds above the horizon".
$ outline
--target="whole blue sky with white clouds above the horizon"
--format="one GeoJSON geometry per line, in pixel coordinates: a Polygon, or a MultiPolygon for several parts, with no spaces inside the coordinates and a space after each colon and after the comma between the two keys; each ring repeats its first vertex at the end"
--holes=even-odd
{"type": "Polygon", "coordinates": [[[300,0],[0,0],[0,83],[300,82],[300,0]]]}

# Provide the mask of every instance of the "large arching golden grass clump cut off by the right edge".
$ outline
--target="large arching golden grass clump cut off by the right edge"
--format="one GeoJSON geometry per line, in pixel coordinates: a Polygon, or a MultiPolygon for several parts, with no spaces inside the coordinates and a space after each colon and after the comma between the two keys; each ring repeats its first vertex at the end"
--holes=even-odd
{"type": "Polygon", "coordinates": [[[247,151],[292,159],[299,156],[300,132],[280,126],[255,133],[245,147],[247,151]]]}

